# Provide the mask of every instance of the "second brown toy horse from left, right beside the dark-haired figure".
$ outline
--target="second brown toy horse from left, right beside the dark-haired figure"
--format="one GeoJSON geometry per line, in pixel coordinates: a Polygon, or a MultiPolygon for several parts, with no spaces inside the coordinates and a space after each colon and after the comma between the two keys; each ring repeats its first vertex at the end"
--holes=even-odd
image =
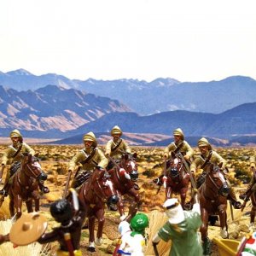
{"type": "Polygon", "coordinates": [[[90,244],[88,250],[90,252],[96,251],[95,243],[96,245],[102,244],[105,203],[110,210],[117,210],[118,196],[109,177],[108,172],[96,169],[79,189],[80,206],[84,210],[84,216],[89,218],[90,244]],[[96,241],[94,236],[95,218],[98,220],[96,241]]]}

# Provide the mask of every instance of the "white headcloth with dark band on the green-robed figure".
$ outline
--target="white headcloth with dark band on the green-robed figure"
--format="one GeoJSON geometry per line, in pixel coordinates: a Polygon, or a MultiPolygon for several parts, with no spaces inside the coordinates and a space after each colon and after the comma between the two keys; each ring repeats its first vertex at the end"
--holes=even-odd
{"type": "Polygon", "coordinates": [[[178,224],[185,219],[183,207],[177,201],[177,198],[167,199],[163,205],[166,209],[166,215],[171,224],[178,224]]]}

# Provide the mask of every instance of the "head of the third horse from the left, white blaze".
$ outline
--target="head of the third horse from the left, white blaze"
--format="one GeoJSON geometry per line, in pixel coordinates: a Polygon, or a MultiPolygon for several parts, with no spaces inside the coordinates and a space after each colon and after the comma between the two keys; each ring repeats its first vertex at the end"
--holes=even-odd
{"type": "Polygon", "coordinates": [[[124,154],[120,166],[130,175],[131,181],[136,182],[138,179],[137,171],[137,153],[124,154]]]}

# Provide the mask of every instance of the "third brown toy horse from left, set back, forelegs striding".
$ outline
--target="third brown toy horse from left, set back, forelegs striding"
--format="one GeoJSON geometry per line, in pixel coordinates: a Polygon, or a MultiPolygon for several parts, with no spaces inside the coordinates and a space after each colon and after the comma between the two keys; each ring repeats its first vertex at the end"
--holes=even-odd
{"type": "Polygon", "coordinates": [[[119,162],[119,166],[114,166],[108,173],[111,176],[114,188],[117,190],[119,198],[118,208],[121,218],[125,216],[124,202],[122,195],[130,195],[136,202],[137,206],[141,205],[142,201],[140,195],[136,189],[134,189],[134,183],[137,181],[137,154],[123,154],[122,159],[119,162]],[[126,175],[120,173],[120,168],[125,169],[126,175]]]}

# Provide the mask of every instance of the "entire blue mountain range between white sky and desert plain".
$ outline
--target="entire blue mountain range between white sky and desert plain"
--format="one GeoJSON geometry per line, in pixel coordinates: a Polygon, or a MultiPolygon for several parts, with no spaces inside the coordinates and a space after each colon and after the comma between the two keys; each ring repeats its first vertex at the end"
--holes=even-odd
{"type": "Polygon", "coordinates": [[[56,74],[35,76],[23,69],[0,73],[0,137],[17,128],[25,137],[80,143],[84,132],[94,131],[103,142],[113,125],[119,125],[131,144],[165,145],[172,131],[181,127],[192,143],[207,136],[217,144],[242,145],[255,143],[255,118],[256,81],[247,77],[206,83],[175,79],[147,83],[70,80],[56,74]],[[176,107],[161,111],[166,101],[176,107]],[[141,104],[138,111],[132,102],[141,104]],[[193,111],[186,110],[188,104],[193,111]],[[208,108],[211,111],[206,112],[208,108]],[[147,114],[142,114],[143,109],[147,114]],[[224,111],[219,113],[221,109],[224,111]]]}

